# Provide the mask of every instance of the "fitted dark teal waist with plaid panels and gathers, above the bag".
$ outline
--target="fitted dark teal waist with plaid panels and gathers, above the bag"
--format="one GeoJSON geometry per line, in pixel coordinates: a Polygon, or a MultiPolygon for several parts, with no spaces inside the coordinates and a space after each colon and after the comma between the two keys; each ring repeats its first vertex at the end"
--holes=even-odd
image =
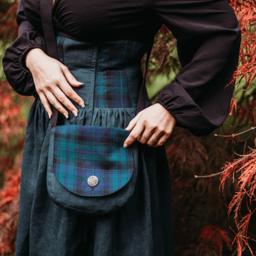
{"type": "MultiPolygon", "coordinates": [[[[141,60],[150,47],[131,40],[79,42],[56,36],[60,62],[83,82],[73,87],[84,100],[75,117],[70,110],[65,124],[126,128],[134,118],[142,86],[141,60]]],[[[62,122],[62,124],[64,124],[62,122]]]]}

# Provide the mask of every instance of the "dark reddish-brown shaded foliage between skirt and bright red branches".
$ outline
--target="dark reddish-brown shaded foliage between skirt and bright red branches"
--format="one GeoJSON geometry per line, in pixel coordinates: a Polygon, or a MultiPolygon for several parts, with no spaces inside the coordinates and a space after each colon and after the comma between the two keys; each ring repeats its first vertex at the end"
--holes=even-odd
{"type": "MultiPolygon", "coordinates": [[[[206,144],[204,139],[175,127],[166,144],[177,255],[218,256],[230,246],[231,231],[228,223],[223,225],[228,200],[225,201],[218,190],[219,181],[196,179],[194,175],[206,175],[220,169],[226,159],[233,159],[233,150],[220,137],[206,144]]],[[[228,193],[229,188],[225,190],[225,194],[228,193]]]]}

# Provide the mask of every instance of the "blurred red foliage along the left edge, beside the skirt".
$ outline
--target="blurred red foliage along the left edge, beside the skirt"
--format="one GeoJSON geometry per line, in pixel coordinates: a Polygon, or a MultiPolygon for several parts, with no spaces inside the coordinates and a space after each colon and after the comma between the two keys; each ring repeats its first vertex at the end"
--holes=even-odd
{"type": "MultiPolygon", "coordinates": [[[[15,14],[16,10],[17,5],[12,7],[7,15],[15,14]]],[[[2,17],[0,20],[2,21],[2,17]]],[[[9,30],[13,32],[12,24],[5,24],[10,26],[9,30]]],[[[4,178],[4,187],[0,190],[1,256],[14,254],[15,251],[20,172],[26,129],[26,119],[22,113],[24,100],[25,97],[14,94],[7,81],[0,82],[0,178],[4,178]]]]}

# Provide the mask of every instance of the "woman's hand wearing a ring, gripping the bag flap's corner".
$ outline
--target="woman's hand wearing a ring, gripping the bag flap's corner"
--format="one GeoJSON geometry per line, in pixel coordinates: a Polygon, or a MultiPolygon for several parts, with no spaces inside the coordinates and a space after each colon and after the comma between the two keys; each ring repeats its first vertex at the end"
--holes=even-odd
{"type": "Polygon", "coordinates": [[[140,111],[126,127],[126,130],[132,131],[126,138],[124,147],[130,146],[136,139],[149,146],[161,146],[169,138],[175,125],[175,118],[164,106],[159,103],[149,106],[140,111]]]}

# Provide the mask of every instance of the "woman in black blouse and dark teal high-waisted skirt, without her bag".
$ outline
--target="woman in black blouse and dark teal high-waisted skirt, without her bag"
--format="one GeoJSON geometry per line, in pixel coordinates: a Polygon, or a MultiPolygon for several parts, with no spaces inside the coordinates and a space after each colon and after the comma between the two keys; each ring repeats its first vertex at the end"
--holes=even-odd
{"type": "Polygon", "coordinates": [[[18,38],[3,58],[14,90],[36,98],[23,152],[15,255],[173,255],[163,144],[174,126],[204,136],[225,121],[232,88],[224,88],[238,65],[241,41],[233,9],[226,0],[56,0],[58,62],[47,56],[39,6],[39,1],[20,0],[18,38]],[[140,61],[162,24],[177,38],[183,69],[160,91],[156,104],[135,117],[140,61]],[[83,48],[87,41],[95,42],[89,51],[83,48]],[[50,200],[49,102],[63,114],[62,124],[89,120],[90,125],[126,128],[131,132],[124,146],[140,142],[135,192],[117,212],[76,215],[50,200]]]}

